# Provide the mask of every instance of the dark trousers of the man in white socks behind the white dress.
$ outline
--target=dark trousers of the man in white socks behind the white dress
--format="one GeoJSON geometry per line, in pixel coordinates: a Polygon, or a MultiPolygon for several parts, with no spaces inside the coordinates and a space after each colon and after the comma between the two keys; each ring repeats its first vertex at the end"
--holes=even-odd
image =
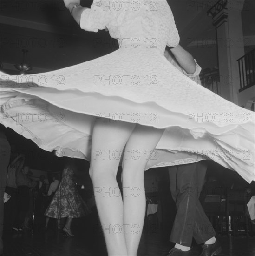
{"type": "Polygon", "coordinates": [[[206,161],[169,167],[170,190],[177,208],[170,236],[173,243],[190,247],[192,237],[200,244],[216,236],[199,202],[206,169],[206,161]]]}

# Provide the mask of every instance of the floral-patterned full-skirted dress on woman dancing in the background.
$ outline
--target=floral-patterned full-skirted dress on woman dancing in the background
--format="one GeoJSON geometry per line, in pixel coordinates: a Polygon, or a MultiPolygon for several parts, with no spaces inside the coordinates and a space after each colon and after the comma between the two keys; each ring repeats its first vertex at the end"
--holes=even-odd
{"type": "Polygon", "coordinates": [[[65,217],[80,218],[90,213],[72,181],[73,171],[66,168],[63,171],[59,188],[45,211],[45,216],[61,219],[65,217]]]}

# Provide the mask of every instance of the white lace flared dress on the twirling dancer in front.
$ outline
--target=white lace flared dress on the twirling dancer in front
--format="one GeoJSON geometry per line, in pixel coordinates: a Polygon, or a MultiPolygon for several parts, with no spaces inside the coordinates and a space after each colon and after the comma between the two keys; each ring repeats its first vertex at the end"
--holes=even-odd
{"type": "Polygon", "coordinates": [[[94,1],[81,28],[107,29],[119,49],[52,72],[1,73],[1,122],[58,156],[90,160],[95,118],[165,131],[147,163],[212,159],[255,180],[254,112],[191,81],[165,57],[179,35],[166,0],[94,1]]]}

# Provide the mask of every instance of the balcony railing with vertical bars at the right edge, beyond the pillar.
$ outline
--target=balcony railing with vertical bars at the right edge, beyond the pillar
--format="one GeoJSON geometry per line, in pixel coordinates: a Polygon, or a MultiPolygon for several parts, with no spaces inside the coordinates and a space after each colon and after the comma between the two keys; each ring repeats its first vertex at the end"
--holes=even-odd
{"type": "Polygon", "coordinates": [[[255,48],[238,61],[240,89],[239,92],[255,85],[255,48]]]}

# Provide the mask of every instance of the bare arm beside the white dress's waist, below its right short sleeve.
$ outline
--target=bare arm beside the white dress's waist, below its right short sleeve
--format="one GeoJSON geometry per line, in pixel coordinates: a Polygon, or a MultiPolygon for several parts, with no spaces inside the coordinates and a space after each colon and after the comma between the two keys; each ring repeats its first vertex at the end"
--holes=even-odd
{"type": "Polygon", "coordinates": [[[193,74],[196,71],[196,62],[192,55],[183,49],[180,45],[170,48],[180,66],[188,73],[193,74]]]}

